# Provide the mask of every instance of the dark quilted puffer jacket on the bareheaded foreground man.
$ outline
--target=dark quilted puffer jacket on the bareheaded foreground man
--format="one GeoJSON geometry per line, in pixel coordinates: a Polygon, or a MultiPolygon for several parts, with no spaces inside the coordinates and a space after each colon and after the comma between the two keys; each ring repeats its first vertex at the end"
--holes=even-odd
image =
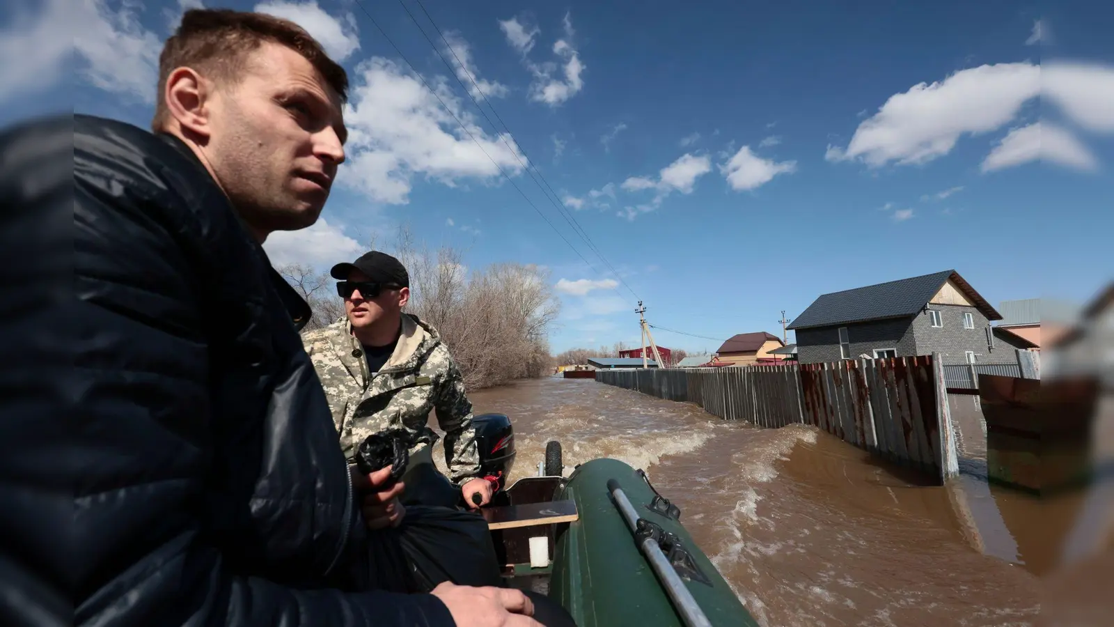
{"type": "Polygon", "coordinates": [[[75,623],[452,625],[430,595],[354,591],[364,528],[309,307],[208,173],[170,136],[72,133],[75,623]]]}

